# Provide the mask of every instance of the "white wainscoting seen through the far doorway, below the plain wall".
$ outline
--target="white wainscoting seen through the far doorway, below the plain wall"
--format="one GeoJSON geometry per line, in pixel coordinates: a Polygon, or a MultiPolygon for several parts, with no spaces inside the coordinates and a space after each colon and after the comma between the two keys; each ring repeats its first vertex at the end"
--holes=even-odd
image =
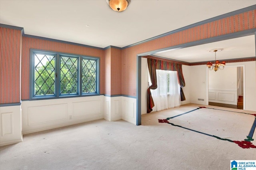
{"type": "Polygon", "coordinates": [[[209,89],[208,98],[209,102],[225,103],[230,105],[237,105],[237,91],[236,90],[223,90],[223,89],[209,89]]]}

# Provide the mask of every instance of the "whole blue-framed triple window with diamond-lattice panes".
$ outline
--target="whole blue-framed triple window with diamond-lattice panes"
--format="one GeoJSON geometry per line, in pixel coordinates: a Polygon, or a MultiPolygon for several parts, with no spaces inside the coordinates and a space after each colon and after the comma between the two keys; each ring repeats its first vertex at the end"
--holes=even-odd
{"type": "Polygon", "coordinates": [[[32,51],[31,98],[97,95],[98,59],[32,51]]]}

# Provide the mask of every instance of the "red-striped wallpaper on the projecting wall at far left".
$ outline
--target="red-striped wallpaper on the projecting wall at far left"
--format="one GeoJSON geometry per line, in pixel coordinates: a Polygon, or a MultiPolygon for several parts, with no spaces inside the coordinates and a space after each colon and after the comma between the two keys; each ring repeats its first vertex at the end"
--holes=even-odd
{"type": "Polygon", "coordinates": [[[0,104],[20,102],[21,31],[0,27],[0,104]]]}

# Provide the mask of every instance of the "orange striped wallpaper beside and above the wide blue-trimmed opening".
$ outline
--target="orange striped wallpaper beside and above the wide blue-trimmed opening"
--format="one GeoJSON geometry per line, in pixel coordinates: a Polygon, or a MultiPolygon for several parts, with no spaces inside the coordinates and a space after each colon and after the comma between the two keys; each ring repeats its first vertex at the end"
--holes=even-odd
{"type": "Polygon", "coordinates": [[[136,96],[136,55],[256,28],[256,10],[189,28],[122,50],[122,94],[136,96]]]}

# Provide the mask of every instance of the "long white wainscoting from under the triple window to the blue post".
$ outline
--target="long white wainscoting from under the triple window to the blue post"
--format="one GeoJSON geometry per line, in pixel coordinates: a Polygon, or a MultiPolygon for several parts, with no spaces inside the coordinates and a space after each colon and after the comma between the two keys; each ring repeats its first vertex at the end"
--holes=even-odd
{"type": "Polygon", "coordinates": [[[22,102],[23,134],[103,118],[136,125],[136,99],[100,95],[22,102]]]}

